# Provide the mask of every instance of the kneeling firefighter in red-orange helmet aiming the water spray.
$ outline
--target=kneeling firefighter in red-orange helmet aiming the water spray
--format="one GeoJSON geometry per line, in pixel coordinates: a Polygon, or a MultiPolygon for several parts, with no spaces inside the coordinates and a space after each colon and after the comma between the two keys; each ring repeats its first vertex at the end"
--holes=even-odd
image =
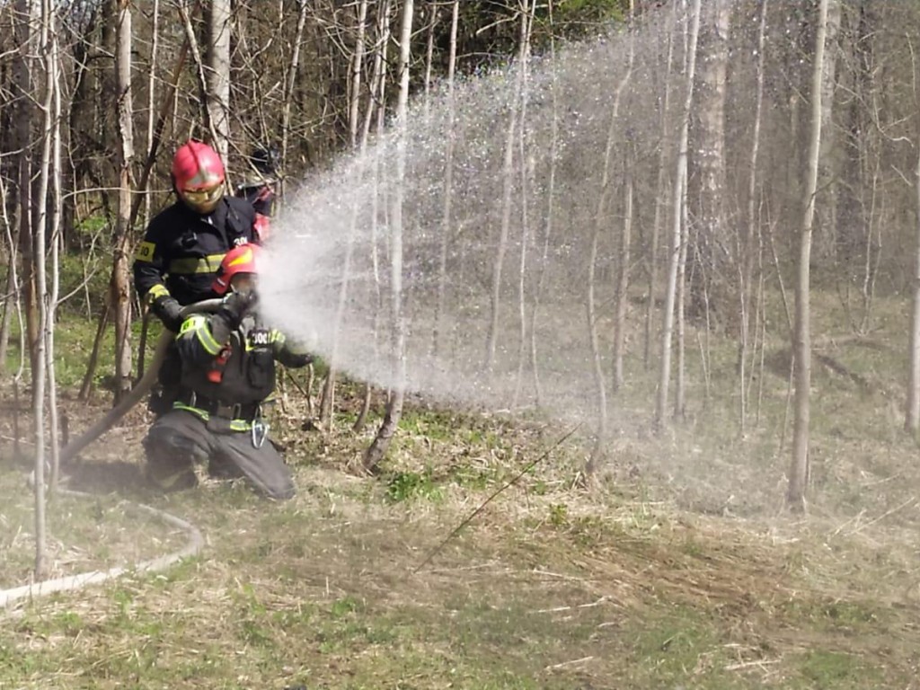
{"type": "Polygon", "coordinates": [[[251,244],[227,252],[213,283],[223,296],[220,307],[189,316],[179,328],[170,355],[181,371],[178,397],[144,438],[147,475],[161,489],[195,486],[200,463],[211,476],[241,477],[268,498],[293,497],[291,473],[267,438],[262,404],[274,391],[275,362],[302,367],[312,358],[259,320],[259,252],[251,244]]]}

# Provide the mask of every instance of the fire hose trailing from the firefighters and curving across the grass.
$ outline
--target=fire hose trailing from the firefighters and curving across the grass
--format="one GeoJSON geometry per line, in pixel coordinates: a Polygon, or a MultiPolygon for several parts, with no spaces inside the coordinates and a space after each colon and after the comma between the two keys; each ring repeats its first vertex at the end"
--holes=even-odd
{"type": "MultiPolygon", "coordinates": [[[[182,309],[182,316],[188,316],[198,312],[213,312],[216,311],[217,307],[220,305],[221,300],[219,299],[206,300],[194,305],[188,305],[182,309]]],[[[137,382],[137,385],[134,385],[131,392],[126,397],[124,397],[116,407],[109,410],[109,413],[105,417],[84,431],[73,442],[68,443],[63,447],[60,454],[60,462],[62,465],[73,459],[77,454],[80,453],[80,451],[84,450],[90,443],[96,441],[98,437],[103,433],[109,431],[109,429],[111,429],[111,427],[118,420],[121,420],[121,418],[127,414],[128,410],[133,408],[142,398],[144,398],[150,389],[154,387],[157,374],[159,374],[160,366],[166,359],[169,345],[174,338],[175,335],[171,331],[167,329],[163,331],[163,333],[160,335],[160,339],[156,342],[156,349],[154,351],[154,357],[150,362],[150,367],[144,373],[144,376],[141,378],[141,380],[137,382]]],[[[29,475],[29,485],[33,485],[34,481],[35,473],[33,470],[32,474],[29,475]]],[[[58,493],[63,496],[93,497],[93,494],[83,491],[74,491],[72,489],[58,489],[58,493]]],[[[164,570],[182,558],[188,558],[190,556],[196,555],[199,551],[201,551],[201,547],[204,546],[204,539],[201,536],[201,532],[195,525],[188,523],[185,520],[182,520],[168,512],[160,511],[156,508],[144,505],[143,503],[129,503],[129,505],[132,506],[132,509],[136,512],[141,512],[145,515],[155,517],[160,522],[166,523],[173,527],[177,527],[178,529],[185,532],[186,535],[188,535],[185,546],[180,548],[178,551],[167,554],[166,556],[144,560],[130,567],[115,567],[108,570],[92,570],[89,572],[78,573],[76,575],[68,575],[61,578],[55,578],[54,580],[32,582],[30,584],[14,587],[13,589],[9,590],[0,590],[0,608],[6,608],[10,604],[14,604],[15,602],[22,599],[32,599],[51,594],[53,592],[68,592],[77,590],[91,584],[98,584],[100,582],[109,581],[128,572],[155,572],[158,570],[164,570]]]]}

